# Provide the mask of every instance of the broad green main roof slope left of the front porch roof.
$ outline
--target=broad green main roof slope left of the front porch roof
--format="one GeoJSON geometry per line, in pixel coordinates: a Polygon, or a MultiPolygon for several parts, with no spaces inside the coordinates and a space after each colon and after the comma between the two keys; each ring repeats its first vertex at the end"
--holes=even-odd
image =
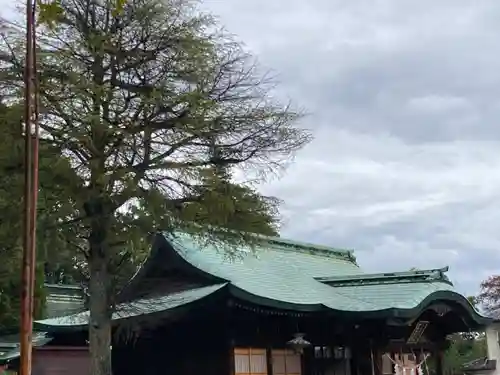
{"type": "MultiPolygon", "coordinates": [[[[345,310],[371,309],[369,301],[350,298],[315,277],[359,274],[362,271],[346,254],[328,253],[307,245],[289,246],[272,240],[251,251],[242,247],[228,258],[214,246],[200,249],[191,237],[176,236],[170,240],[175,250],[196,268],[227,280],[233,287],[269,300],[302,305],[342,306],[345,310]]],[[[300,308],[300,306],[297,306],[300,308]]]]}

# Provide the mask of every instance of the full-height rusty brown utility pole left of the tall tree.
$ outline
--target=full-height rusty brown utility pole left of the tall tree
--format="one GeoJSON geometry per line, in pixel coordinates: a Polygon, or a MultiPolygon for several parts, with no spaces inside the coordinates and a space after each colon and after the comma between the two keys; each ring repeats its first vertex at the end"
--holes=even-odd
{"type": "MultiPolygon", "coordinates": [[[[36,0],[35,0],[36,1],[36,0]]],[[[36,210],[38,198],[38,97],[36,84],[35,2],[26,0],[24,64],[24,235],[21,295],[20,375],[31,375],[33,308],[36,269],[36,210]]]]}

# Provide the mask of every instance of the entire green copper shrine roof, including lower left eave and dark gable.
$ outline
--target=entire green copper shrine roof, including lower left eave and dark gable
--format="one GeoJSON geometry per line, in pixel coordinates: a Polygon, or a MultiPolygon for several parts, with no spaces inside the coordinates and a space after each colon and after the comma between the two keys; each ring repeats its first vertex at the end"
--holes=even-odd
{"type": "MultiPolygon", "coordinates": [[[[224,289],[236,298],[270,308],[373,317],[415,318],[432,302],[452,301],[462,306],[475,324],[486,321],[454,290],[445,275],[446,268],[366,274],[356,264],[351,251],[280,238],[259,237],[259,241],[252,249],[232,247],[232,256],[228,257],[220,247],[201,244],[187,235],[158,235],[152,255],[132,284],[140,283],[151,267],[165,262],[166,266],[180,267],[179,271],[196,271],[216,285],[122,304],[121,311],[113,318],[176,308],[224,289]]],[[[37,324],[38,328],[74,327],[87,322],[88,312],[85,312],[37,324]]]]}

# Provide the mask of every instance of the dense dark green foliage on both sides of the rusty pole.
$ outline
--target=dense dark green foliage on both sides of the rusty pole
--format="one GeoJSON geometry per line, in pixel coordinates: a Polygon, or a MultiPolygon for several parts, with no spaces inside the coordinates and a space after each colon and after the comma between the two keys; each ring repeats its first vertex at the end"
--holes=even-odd
{"type": "MultiPolygon", "coordinates": [[[[24,184],[22,108],[0,103],[0,328],[18,325],[21,297],[21,232],[22,195],[24,184]]],[[[48,145],[40,148],[40,180],[38,225],[41,229],[37,237],[39,265],[35,289],[35,316],[43,313],[44,271],[59,268],[66,273],[73,271],[73,255],[68,249],[67,233],[61,231],[60,222],[65,219],[71,202],[62,194],[63,178],[73,172],[69,161],[48,145]]],[[[76,176],[74,176],[76,177],[76,176]]]]}

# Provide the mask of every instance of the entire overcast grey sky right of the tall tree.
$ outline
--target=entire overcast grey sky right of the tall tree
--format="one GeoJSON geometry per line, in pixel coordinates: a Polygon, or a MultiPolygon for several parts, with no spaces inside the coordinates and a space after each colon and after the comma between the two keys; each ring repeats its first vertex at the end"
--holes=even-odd
{"type": "Polygon", "coordinates": [[[312,114],[315,140],[265,188],[283,235],[369,271],[500,273],[498,0],[206,0],[312,114]]]}

